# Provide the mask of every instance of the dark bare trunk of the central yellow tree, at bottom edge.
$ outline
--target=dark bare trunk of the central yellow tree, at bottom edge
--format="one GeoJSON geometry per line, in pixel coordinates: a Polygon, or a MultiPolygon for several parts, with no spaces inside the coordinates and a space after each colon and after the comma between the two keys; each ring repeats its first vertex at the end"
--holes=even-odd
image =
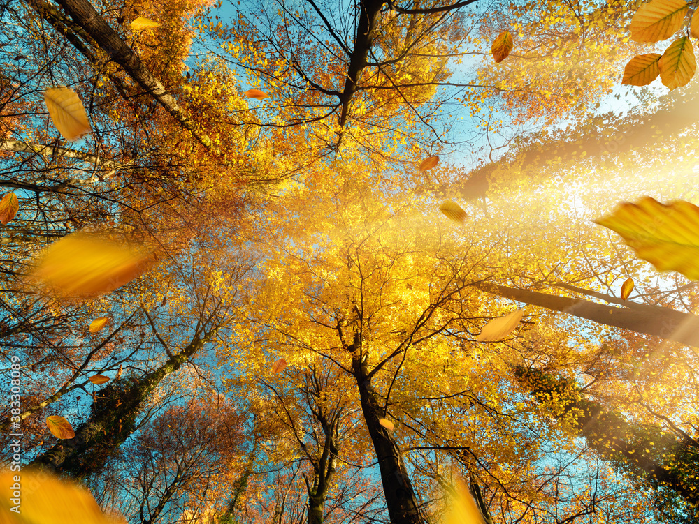
{"type": "Polygon", "coordinates": [[[419,512],[417,497],[410,483],[408,470],[405,469],[401,449],[391,431],[379,423],[379,420],[384,418],[384,412],[379,396],[371,384],[371,375],[360,345],[361,340],[357,332],[354,334],[354,342],[347,350],[352,354],[352,375],[359,388],[361,411],[379,463],[391,524],[424,524],[425,520],[419,512]]]}

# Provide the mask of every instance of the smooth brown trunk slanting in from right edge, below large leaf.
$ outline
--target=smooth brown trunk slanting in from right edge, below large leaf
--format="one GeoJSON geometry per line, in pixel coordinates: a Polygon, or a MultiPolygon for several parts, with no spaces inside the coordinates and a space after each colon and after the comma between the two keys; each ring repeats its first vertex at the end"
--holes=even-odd
{"type": "Polygon", "coordinates": [[[570,299],[537,291],[517,290],[492,283],[478,284],[477,287],[505,299],[561,311],[561,313],[575,315],[606,326],[630,329],[637,333],[699,347],[699,317],[689,315],[689,313],[642,304],[636,304],[633,308],[617,308],[589,300],[570,299]]]}

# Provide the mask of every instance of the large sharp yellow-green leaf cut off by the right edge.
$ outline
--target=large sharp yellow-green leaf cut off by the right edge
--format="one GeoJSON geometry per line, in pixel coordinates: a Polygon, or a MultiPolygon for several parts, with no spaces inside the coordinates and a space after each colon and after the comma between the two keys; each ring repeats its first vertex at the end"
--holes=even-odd
{"type": "Polygon", "coordinates": [[[675,200],[665,205],[643,197],[637,204],[624,202],[595,222],[619,233],[658,271],[679,271],[699,280],[699,207],[694,204],[675,200]]]}

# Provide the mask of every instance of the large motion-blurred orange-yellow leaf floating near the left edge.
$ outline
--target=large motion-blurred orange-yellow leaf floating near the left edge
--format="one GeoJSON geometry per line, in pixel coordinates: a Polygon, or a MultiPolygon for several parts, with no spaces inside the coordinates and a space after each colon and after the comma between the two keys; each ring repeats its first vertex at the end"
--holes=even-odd
{"type": "Polygon", "coordinates": [[[152,263],[150,254],[78,232],[45,250],[33,278],[52,297],[87,299],[131,282],[152,263]]]}

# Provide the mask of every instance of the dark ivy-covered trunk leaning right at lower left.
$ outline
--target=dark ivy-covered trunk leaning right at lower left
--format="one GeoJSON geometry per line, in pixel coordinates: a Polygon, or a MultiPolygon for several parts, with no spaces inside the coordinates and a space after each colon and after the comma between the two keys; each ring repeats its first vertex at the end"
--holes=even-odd
{"type": "Polygon", "coordinates": [[[109,384],[96,396],[89,418],[75,429],[75,437],[61,440],[29,465],[48,467],[76,479],[99,471],[134,432],[136,417],[150,392],[200,350],[213,334],[214,331],[203,336],[196,334],[185,349],[140,381],[129,377],[109,384]]]}

